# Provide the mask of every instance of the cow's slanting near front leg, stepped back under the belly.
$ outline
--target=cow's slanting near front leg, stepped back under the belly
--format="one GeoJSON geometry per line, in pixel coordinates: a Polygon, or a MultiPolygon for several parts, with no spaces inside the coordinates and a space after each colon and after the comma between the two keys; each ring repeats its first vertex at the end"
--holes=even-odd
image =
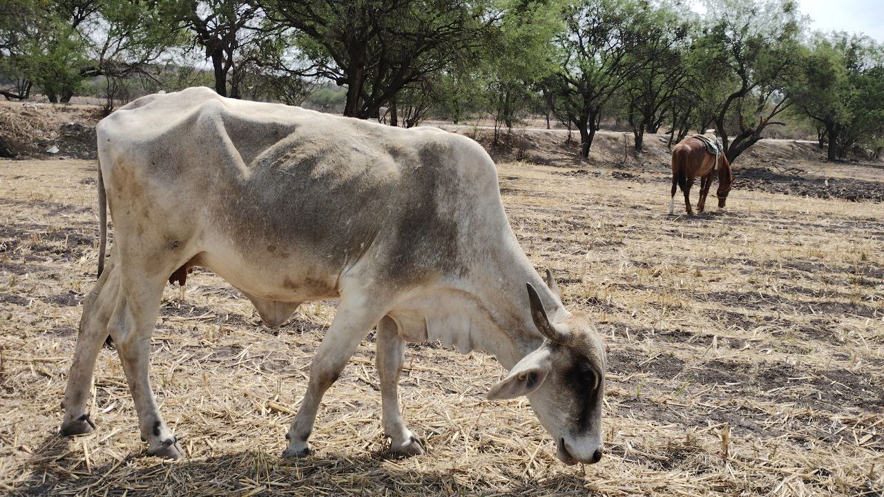
{"type": "Polygon", "coordinates": [[[375,310],[364,298],[341,296],[338,312],[316,350],[313,363],[310,364],[307,393],[304,394],[298,414],[286,434],[288,447],[283,451],[283,457],[303,457],[310,454],[307,439],[313,431],[319,402],[329,386],[338,379],[340,371],[344,370],[359,341],[383,316],[384,311],[375,310]]]}

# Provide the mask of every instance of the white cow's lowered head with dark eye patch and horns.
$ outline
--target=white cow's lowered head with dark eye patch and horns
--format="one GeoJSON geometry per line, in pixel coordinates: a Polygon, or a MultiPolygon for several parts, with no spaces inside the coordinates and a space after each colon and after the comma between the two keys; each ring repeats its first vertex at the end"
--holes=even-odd
{"type": "MultiPolygon", "coordinates": [[[[547,281],[558,293],[549,271],[547,281]]],[[[556,442],[561,462],[598,463],[604,450],[605,344],[585,315],[575,312],[552,322],[530,283],[528,297],[534,325],[545,340],[492,387],[488,398],[528,395],[531,409],[556,442]]]]}

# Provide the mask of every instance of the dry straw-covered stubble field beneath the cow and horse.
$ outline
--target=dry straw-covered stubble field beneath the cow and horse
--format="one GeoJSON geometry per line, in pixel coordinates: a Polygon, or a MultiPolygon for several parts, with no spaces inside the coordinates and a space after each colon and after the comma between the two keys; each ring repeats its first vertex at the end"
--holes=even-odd
{"type": "Polygon", "coordinates": [[[726,213],[669,217],[664,173],[499,167],[522,247],[610,346],[600,463],[559,463],[527,401],[484,400],[492,357],[438,344],[408,346],[400,388],[428,453],[392,459],[371,334],[325,397],[315,455],[280,460],[333,302],[271,331],[204,271],[168,287],[154,335],[188,455],[167,463],[144,454],[110,348],[98,429],[57,437],[95,280],[95,163],[0,162],[0,493],[884,495],[884,203],[738,185],[726,213]]]}

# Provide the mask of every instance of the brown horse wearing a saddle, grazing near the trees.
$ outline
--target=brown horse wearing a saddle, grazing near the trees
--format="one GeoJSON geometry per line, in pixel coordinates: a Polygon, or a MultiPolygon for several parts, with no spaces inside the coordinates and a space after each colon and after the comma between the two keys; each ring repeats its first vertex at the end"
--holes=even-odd
{"type": "Polygon", "coordinates": [[[734,182],[734,176],[730,171],[728,157],[724,153],[718,156],[706,150],[704,141],[689,136],[675,145],[672,151],[672,199],[669,202],[669,215],[674,212],[675,189],[682,188],[684,194],[684,208],[688,215],[693,215],[690,209],[690,187],[694,186],[694,180],[700,178],[700,198],[697,201],[697,213],[705,209],[706,195],[709,194],[709,186],[713,182],[713,173],[718,171],[719,187],[716,195],[719,197],[719,209],[724,209],[728,200],[730,185],[734,182]],[[718,166],[716,167],[716,162],[718,166]]]}

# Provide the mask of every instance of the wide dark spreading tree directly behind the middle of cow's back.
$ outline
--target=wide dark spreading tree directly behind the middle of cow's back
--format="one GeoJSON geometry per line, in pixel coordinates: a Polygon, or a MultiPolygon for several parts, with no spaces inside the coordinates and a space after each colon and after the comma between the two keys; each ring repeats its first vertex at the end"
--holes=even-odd
{"type": "Polygon", "coordinates": [[[344,115],[378,118],[382,106],[414,85],[468,57],[499,17],[490,0],[265,0],[317,73],[347,86],[344,115]]]}

